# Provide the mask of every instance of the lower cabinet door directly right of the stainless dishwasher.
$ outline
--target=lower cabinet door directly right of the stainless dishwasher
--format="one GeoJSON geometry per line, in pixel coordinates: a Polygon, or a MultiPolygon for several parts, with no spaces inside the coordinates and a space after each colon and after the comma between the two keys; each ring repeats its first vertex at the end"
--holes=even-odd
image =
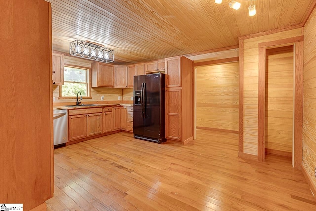
{"type": "Polygon", "coordinates": [[[87,115],[69,116],[69,141],[87,137],[87,115]]]}

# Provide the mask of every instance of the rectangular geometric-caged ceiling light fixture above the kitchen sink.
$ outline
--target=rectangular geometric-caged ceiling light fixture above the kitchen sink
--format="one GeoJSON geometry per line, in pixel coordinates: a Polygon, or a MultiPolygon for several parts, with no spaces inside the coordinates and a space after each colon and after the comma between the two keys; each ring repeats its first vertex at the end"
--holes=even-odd
{"type": "Polygon", "coordinates": [[[69,55],[87,58],[105,63],[114,61],[114,51],[103,45],[87,41],[75,40],[69,43],[69,55]]]}

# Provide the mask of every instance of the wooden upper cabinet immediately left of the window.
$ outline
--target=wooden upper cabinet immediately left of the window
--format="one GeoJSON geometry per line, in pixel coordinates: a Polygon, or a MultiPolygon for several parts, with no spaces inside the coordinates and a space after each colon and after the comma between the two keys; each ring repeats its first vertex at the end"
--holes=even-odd
{"type": "Polygon", "coordinates": [[[53,84],[64,84],[64,56],[62,54],[53,53],[53,84]]]}

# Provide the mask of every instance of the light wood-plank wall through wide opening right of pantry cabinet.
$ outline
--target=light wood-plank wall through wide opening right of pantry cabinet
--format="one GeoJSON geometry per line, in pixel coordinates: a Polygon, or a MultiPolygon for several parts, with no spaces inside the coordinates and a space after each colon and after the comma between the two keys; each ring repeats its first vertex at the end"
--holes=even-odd
{"type": "Polygon", "coordinates": [[[197,67],[197,128],[238,131],[239,62],[197,67]]]}

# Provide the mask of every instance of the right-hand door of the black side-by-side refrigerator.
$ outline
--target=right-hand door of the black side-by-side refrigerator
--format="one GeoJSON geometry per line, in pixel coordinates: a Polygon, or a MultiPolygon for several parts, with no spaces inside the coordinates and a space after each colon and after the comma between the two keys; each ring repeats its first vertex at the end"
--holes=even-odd
{"type": "Polygon", "coordinates": [[[145,76],[144,136],[153,139],[161,138],[160,80],[160,74],[145,76]]]}

